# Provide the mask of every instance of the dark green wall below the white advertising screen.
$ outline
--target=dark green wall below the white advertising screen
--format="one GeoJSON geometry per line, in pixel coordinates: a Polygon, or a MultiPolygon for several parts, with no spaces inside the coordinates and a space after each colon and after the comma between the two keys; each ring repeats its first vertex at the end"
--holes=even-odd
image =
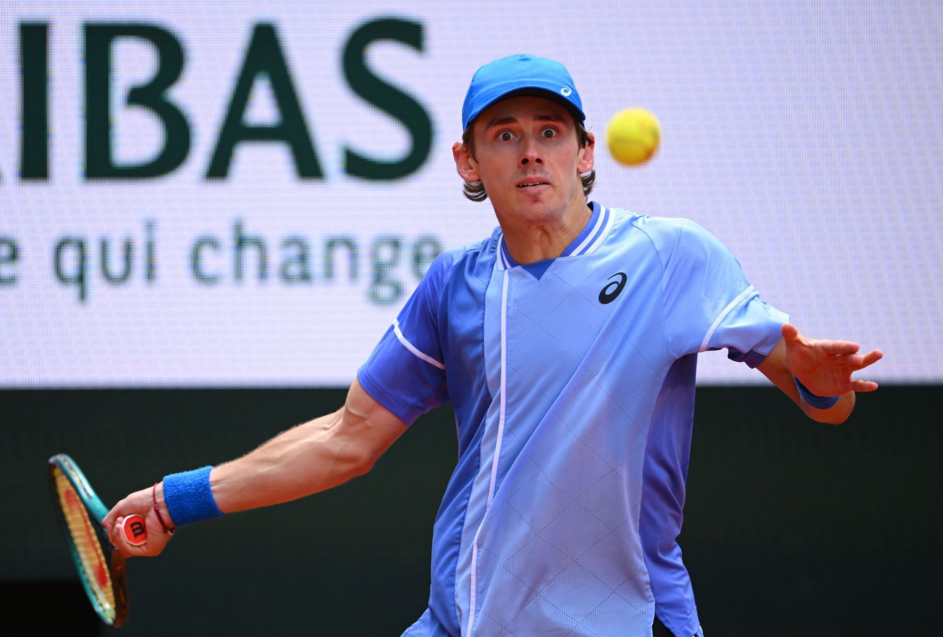
{"type": "MultiPolygon", "coordinates": [[[[936,629],[940,389],[860,395],[840,427],[805,420],[774,389],[698,391],[680,542],[707,634],[936,629]]],[[[74,572],[45,485],[52,454],[72,455],[112,503],[165,473],[237,457],[337,409],[343,395],[0,392],[0,497],[10,513],[0,595],[47,628],[72,608],[57,600],[81,595],[57,583],[74,572]]],[[[432,522],[455,453],[453,414],[441,409],[364,478],[182,529],[158,559],[129,562],[123,634],[399,635],[425,605],[432,522]]]]}

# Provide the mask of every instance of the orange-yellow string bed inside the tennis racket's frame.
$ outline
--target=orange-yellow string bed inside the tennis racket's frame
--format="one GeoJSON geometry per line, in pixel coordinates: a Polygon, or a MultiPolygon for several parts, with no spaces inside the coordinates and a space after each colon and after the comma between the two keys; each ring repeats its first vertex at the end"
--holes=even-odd
{"type": "Polygon", "coordinates": [[[82,564],[82,569],[85,571],[91,590],[98,598],[98,603],[108,615],[113,615],[115,610],[114,586],[108,573],[108,561],[98,541],[95,528],[92,526],[89,511],[82,504],[82,500],[75,492],[72,483],[58,468],[55,475],[59,504],[62,507],[66,525],[69,527],[69,533],[72,535],[78,560],[82,564]]]}

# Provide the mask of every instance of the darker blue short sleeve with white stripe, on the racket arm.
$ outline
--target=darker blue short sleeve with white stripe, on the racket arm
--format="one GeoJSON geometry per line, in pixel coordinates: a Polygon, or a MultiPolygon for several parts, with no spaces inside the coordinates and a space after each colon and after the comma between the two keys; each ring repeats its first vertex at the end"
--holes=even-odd
{"type": "Polygon", "coordinates": [[[449,400],[439,339],[438,305],[455,256],[442,253],[373,348],[357,380],[367,394],[411,425],[449,400]]]}

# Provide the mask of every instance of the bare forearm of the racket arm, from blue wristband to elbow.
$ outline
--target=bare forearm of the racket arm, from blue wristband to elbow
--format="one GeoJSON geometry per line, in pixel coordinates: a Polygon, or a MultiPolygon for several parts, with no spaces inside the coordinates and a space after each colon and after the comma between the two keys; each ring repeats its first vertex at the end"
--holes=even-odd
{"type": "Polygon", "coordinates": [[[351,437],[336,427],[344,410],[292,427],[239,460],[213,468],[209,484],[223,513],[267,507],[316,494],[369,470],[351,437]]]}

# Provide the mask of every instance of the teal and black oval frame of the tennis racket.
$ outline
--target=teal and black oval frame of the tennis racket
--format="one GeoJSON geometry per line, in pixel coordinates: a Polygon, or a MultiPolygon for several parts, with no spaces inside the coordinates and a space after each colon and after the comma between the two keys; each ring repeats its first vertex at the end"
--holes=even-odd
{"type": "Polygon", "coordinates": [[[102,526],[102,520],[105,519],[105,516],[108,514],[108,507],[105,506],[98,495],[95,495],[88,478],[85,478],[85,474],[78,468],[75,461],[66,454],[59,453],[49,459],[47,475],[49,478],[49,489],[52,493],[53,501],[56,503],[59,521],[65,528],[69,552],[72,554],[75,570],[78,571],[78,578],[82,582],[82,587],[85,589],[89,601],[91,601],[91,608],[94,609],[95,613],[106,625],[116,629],[120,628],[124,626],[124,622],[127,621],[129,610],[127,575],[124,570],[124,556],[121,554],[121,551],[111,544],[108,538],[108,531],[102,526]],[[59,499],[58,486],[56,485],[57,469],[61,471],[62,475],[72,484],[75,493],[78,495],[79,500],[85,507],[85,510],[88,511],[89,517],[91,518],[91,528],[95,531],[98,544],[101,545],[102,553],[105,555],[105,562],[108,565],[108,576],[111,578],[111,588],[115,599],[113,616],[99,600],[98,595],[96,595],[85,566],[82,564],[79,557],[79,552],[72,536],[72,529],[69,528],[65,511],[62,510],[62,502],[59,499]]]}

